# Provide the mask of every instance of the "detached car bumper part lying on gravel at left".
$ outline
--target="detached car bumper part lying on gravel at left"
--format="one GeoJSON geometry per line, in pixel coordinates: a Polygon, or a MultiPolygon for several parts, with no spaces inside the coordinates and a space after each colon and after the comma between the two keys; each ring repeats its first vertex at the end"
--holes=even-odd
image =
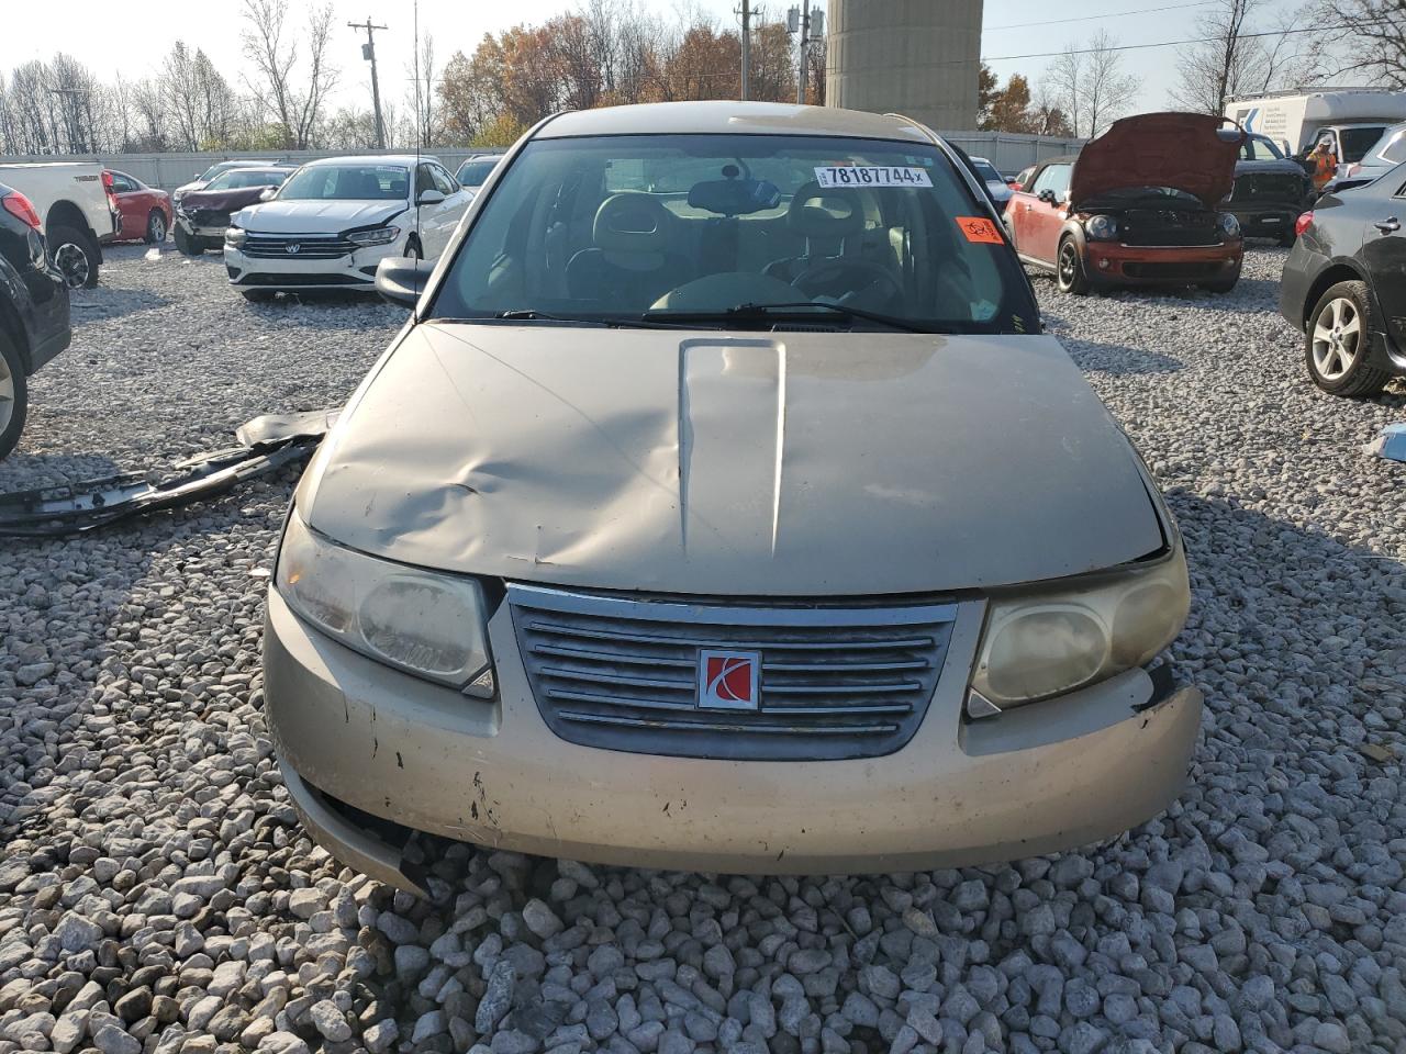
{"type": "Polygon", "coordinates": [[[141,472],[122,472],[0,495],[0,537],[59,538],[215,497],[246,479],[277,472],[308,457],[337,413],[314,410],[254,417],[235,431],[240,445],[181,461],[177,469],[184,471],[156,482],[141,472]]]}

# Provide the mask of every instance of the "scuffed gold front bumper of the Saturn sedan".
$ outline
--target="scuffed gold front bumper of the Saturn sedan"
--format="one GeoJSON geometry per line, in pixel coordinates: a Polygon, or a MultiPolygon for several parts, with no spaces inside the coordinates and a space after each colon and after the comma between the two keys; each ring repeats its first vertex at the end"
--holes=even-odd
{"type": "MultiPolygon", "coordinates": [[[[960,604],[953,668],[970,663],[981,618],[980,601],[960,604]]],[[[886,757],[624,753],[568,743],[546,725],[508,604],[489,639],[492,703],[352,652],[270,590],[264,684],[284,780],[311,832],[344,863],[422,888],[388,829],[721,873],[1008,860],[1108,838],[1161,811],[1184,784],[1201,724],[1197,689],[1159,697],[1143,670],[966,722],[966,679],[946,676],[914,738],[886,757]]]]}

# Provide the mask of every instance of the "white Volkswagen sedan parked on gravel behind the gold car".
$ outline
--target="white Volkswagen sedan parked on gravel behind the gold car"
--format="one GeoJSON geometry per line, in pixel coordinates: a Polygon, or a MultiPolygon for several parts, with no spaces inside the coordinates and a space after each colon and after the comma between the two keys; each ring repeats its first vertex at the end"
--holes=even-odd
{"type": "Polygon", "coordinates": [[[280,289],[373,289],[389,256],[434,260],[474,195],[433,157],[329,157],[298,169],[225,235],[229,284],[257,301],[280,289]]]}

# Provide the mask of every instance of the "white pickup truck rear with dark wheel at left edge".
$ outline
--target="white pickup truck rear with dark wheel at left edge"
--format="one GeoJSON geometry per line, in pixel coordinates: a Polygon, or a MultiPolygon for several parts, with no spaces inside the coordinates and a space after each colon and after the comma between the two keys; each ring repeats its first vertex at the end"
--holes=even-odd
{"type": "Polygon", "coordinates": [[[28,198],[49,256],[70,289],[97,285],[103,243],[118,235],[118,205],[101,164],[0,164],[0,183],[28,198]]]}

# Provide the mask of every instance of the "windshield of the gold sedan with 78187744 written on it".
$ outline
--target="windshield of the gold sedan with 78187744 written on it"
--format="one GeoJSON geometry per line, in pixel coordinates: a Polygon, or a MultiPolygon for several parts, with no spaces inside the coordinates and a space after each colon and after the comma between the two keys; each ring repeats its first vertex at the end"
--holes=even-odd
{"type": "Polygon", "coordinates": [[[430,313],[650,312],[770,329],[769,312],[723,316],[800,305],[789,311],[827,327],[877,325],[827,309],[838,306],[932,332],[1038,332],[1029,284],[987,209],[922,143],[537,139],[498,177],[430,313]]]}

